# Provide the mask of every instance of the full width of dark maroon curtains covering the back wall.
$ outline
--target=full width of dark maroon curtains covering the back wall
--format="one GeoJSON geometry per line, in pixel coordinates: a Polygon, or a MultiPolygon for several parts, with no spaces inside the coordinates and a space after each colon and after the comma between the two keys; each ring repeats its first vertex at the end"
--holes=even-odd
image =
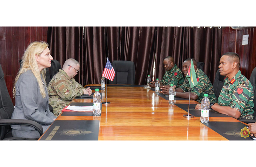
{"type": "Polygon", "coordinates": [[[218,27],[49,27],[48,43],[53,57],[63,65],[67,58],[80,62],[75,79],[82,85],[99,84],[107,62],[128,60],[135,64],[135,84],[152,77],[162,79],[166,56],[181,68],[192,57],[204,62],[213,82],[221,54],[222,28],[218,27]]]}

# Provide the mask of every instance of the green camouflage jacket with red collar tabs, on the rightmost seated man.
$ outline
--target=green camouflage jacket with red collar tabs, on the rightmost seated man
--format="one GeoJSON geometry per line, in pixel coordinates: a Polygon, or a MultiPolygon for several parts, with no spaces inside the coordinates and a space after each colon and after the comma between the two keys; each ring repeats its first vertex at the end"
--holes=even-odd
{"type": "Polygon", "coordinates": [[[229,106],[241,113],[241,118],[253,119],[253,87],[247,78],[239,70],[234,78],[228,81],[224,79],[224,85],[218,97],[218,104],[229,106]]]}

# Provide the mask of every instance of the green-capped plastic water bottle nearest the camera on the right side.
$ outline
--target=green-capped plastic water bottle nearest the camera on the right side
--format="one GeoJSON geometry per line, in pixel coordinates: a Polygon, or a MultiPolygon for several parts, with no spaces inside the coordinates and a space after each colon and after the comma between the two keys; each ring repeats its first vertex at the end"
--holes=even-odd
{"type": "Polygon", "coordinates": [[[209,122],[209,108],[210,108],[210,101],[208,99],[208,94],[204,94],[204,98],[201,102],[201,123],[209,122]]]}

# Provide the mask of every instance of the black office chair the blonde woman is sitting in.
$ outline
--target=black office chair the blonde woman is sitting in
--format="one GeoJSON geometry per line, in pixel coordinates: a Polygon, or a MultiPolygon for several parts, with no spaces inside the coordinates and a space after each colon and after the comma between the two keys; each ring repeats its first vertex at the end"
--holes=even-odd
{"type": "Polygon", "coordinates": [[[12,128],[10,125],[26,125],[35,128],[40,135],[43,134],[43,128],[40,124],[32,120],[11,119],[13,114],[13,102],[8,93],[5,81],[4,72],[0,65],[0,140],[38,140],[15,138],[12,136],[12,128]]]}

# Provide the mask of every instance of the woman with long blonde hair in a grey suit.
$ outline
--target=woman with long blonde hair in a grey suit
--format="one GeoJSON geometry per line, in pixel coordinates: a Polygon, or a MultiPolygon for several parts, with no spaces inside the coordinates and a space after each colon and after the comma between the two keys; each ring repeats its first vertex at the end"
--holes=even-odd
{"type": "MultiPolygon", "coordinates": [[[[45,68],[53,57],[46,42],[32,42],[22,56],[22,66],[13,87],[15,108],[12,119],[33,120],[42,125],[43,132],[56,119],[49,110],[49,97],[45,83],[45,68]]],[[[13,137],[39,138],[37,130],[29,126],[11,125],[13,137]]]]}

